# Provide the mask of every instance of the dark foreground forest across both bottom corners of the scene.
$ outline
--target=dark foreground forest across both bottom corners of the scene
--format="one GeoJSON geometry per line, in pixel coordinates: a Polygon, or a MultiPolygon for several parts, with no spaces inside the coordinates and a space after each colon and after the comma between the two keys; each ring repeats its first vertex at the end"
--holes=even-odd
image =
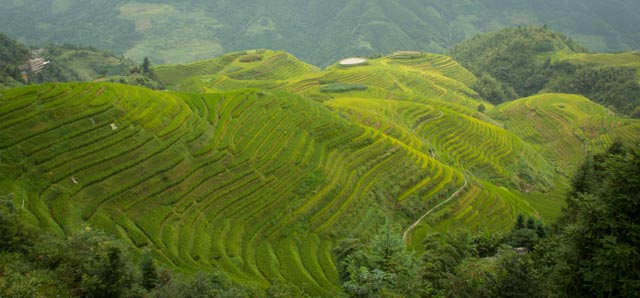
{"type": "MultiPolygon", "coordinates": [[[[336,248],[351,297],[632,297],[640,291],[640,146],[614,143],[572,180],[558,222],[518,216],[510,233],[433,233],[418,251],[391,223],[336,248]]],[[[89,227],[67,238],[24,224],[0,198],[3,297],[299,297],[220,272],[182,275],[89,227]]]]}

